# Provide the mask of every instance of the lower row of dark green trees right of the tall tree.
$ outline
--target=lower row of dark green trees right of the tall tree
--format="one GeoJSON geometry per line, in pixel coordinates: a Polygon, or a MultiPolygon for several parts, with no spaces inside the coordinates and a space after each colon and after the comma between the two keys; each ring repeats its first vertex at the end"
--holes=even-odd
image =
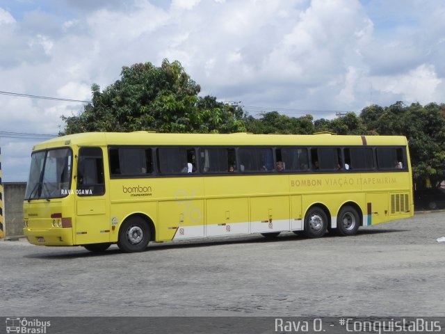
{"type": "Polygon", "coordinates": [[[414,182],[419,186],[429,178],[432,184],[445,180],[445,104],[396,102],[388,107],[367,106],[359,116],[313,120],[307,115],[293,118],[276,111],[261,118],[247,116],[245,125],[254,134],[313,134],[333,132],[355,135],[402,135],[408,138],[414,182]]]}

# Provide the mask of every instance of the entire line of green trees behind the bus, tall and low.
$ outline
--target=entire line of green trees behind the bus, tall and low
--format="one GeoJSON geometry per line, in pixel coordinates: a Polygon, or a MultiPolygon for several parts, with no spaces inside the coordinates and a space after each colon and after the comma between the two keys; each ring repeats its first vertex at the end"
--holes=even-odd
{"type": "Polygon", "coordinates": [[[359,116],[347,113],[332,120],[300,118],[277,111],[248,116],[238,106],[198,97],[200,86],[178,61],[164,59],[122,67],[120,79],[102,92],[93,84],[92,103],[78,116],[63,116],[61,134],[78,132],[156,132],[254,134],[336,134],[407,136],[414,182],[432,184],[445,179],[445,104],[426,106],[396,102],[391,106],[367,106],[359,116]]]}

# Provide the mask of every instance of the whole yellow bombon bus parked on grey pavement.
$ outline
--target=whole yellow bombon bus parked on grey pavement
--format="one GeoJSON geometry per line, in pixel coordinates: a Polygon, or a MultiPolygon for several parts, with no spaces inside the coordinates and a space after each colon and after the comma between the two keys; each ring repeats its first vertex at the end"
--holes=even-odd
{"type": "Polygon", "coordinates": [[[31,244],[118,244],[293,231],[353,235],[414,214],[403,136],[85,133],[31,154],[31,244]]]}

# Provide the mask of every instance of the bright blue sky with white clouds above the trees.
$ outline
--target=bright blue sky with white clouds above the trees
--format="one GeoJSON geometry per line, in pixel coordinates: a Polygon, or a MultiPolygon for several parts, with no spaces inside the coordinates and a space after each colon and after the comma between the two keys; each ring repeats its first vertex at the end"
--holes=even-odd
{"type": "MultiPolygon", "coordinates": [[[[252,116],[443,103],[444,17],[442,0],[0,0],[0,92],[88,101],[122,66],[168,58],[252,116]]],[[[33,145],[82,110],[0,93],[3,182],[26,181],[33,145]]]]}

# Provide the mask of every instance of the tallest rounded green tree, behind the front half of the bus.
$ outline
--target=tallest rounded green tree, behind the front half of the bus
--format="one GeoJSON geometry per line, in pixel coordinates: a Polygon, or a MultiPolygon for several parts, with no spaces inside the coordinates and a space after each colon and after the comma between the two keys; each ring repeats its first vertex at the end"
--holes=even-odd
{"type": "Polygon", "coordinates": [[[120,80],[102,92],[92,85],[92,103],[78,116],[62,116],[64,134],[79,132],[244,132],[243,110],[198,97],[200,86],[179,61],[164,59],[122,67],[120,80]]]}

